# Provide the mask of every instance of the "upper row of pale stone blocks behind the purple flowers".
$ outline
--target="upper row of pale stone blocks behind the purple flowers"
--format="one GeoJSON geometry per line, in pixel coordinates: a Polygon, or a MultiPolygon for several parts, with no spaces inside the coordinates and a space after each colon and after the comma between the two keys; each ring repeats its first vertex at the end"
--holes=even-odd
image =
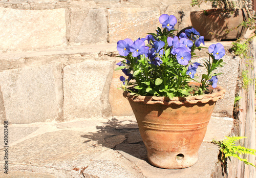
{"type": "MultiPolygon", "coordinates": [[[[201,5],[201,9],[210,7],[201,5]]],[[[155,32],[160,14],[173,14],[176,29],[191,26],[190,1],[0,1],[0,50],[116,42],[155,32]]]]}

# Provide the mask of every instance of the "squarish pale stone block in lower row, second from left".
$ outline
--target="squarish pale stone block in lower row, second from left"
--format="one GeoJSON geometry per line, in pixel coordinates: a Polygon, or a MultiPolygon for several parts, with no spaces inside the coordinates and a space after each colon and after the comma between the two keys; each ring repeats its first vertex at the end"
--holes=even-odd
{"type": "Polygon", "coordinates": [[[110,116],[113,62],[87,60],[63,68],[64,118],[110,116]]]}

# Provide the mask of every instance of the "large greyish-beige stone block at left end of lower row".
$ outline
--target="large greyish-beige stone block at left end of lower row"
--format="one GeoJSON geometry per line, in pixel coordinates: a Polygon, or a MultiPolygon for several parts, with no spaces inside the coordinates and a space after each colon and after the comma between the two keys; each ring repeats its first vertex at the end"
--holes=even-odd
{"type": "Polygon", "coordinates": [[[55,78],[50,64],[0,73],[9,123],[45,122],[58,116],[55,78]]]}

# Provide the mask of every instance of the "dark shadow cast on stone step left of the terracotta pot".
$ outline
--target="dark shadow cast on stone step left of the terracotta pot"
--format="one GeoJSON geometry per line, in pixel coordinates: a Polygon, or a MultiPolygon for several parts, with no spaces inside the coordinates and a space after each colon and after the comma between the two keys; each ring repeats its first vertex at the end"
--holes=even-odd
{"type": "MultiPolygon", "coordinates": [[[[105,122],[103,126],[97,126],[97,132],[89,132],[81,137],[90,139],[98,144],[114,150],[124,151],[133,157],[146,160],[147,151],[141,139],[138,125],[135,121],[119,121],[116,118],[105,122]]],[[[95,146],[95,145],[92,145],[95,146]]]]}

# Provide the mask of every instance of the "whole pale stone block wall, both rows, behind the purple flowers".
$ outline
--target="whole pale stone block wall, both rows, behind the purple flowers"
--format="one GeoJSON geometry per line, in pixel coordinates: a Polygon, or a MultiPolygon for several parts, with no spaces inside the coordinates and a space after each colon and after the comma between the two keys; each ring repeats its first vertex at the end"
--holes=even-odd
{"type": "Polygon", "coordinates": [[[182,30],[196,9],[166,0],[0,1],[1,121],[133,115],[123,98],[128,108],[117,104],[115,43],[155,32],[163,13],[182,30]]]}

